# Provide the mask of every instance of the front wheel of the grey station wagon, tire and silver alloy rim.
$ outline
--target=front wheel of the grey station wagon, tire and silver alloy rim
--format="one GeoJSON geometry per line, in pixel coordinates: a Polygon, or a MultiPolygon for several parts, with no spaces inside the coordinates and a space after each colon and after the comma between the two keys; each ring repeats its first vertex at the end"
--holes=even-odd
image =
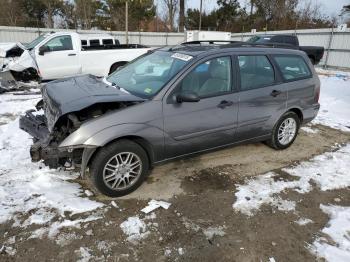
{"type": "Polygon", "coordinates": [[[111,197],[124,196],[136,190],[148,171],[145,150],[131,140],[119,140],[101,148],[90,166],[94,186],[111,197]]]}

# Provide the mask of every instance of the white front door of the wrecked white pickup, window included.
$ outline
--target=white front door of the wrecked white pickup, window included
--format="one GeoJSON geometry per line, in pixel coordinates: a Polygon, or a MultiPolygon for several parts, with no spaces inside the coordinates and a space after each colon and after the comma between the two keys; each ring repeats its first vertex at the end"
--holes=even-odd
{"type": "Polygon", "coordinates": [[[36,62],[43,79],[74,76],[81,72],[78,47],[74,46],[70,35],[53,37],[41,46],[49,50],[42,55],[39,54],[40,46],[35,50],[36,62]]]}

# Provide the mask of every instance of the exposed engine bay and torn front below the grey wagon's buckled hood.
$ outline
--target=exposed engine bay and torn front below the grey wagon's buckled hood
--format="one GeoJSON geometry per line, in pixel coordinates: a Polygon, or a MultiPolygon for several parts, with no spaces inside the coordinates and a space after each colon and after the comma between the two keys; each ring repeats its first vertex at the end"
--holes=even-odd
{"type": "MultiPolygon", "coordinates": [[[[78,112],[63,115],[56,122],[52,132],[47,128],[44,114],[44,102],[41,100],[35,110],[26,112],[20,120],[20,128],[33,136],[30,155],[33,162],[43,160],[50,168],[79,167],[83,148],[70,151],[59,150],[59,144],[76,131],[84,122],[97,118],[111,111],[121,110],[138,102],[115,102],[95,104],[78,112]]],[[[44,110],[45,111],[45,110],[44,110]]]]}

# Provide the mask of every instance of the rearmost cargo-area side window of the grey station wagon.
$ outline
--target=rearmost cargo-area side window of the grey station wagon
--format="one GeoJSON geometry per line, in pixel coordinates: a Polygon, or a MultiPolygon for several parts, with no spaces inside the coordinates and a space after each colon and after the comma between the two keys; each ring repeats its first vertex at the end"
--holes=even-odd
{"type": "Polygon", "coordinates": [[[283,78],[287,81],[296,81],[311,77],[311,71],[301,56],[274,56],[283,78]]]}

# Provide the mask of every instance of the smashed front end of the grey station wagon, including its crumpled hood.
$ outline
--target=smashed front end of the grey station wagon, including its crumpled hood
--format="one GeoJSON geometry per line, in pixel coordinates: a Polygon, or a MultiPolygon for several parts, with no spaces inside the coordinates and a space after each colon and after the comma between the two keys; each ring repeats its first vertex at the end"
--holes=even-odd
{"type": "Polygon", "coordinates": [[[144,101],[91,75],[52,81],[43,86],[42,96],[36,110],[27,111],[19,122],[20,128],[33,137],[32,161],[82,173],[96,147],[60,144],[79,132],[84,123],[144,101]]]}

